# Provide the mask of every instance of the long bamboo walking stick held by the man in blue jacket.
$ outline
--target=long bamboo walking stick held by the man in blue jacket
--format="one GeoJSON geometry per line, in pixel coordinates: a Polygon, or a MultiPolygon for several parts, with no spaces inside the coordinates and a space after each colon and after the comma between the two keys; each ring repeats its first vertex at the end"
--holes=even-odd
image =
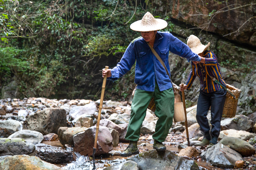
{"type": "MultiPolygon", "coordinates": [[[[105,66],[105,70],[108,69],[108,66],[105,66]]],[[[95,167],[95,157],[94,154],[96,153],[96,148],[97,148],[97,139],[98,139],[98,128],[100,126],[100,115],[101,115],[101,109],[102,109],[102,104],[103,104],[103,98],[104,98],[104,93],[105,93],[105,87],[106,87],[106,81],[107,81],[107,75],[103,78],[103,84],[102,84],[102,90],[101,90],[101,100],[100,100],[100,107],[99,107],[99,112],[98,112],[98,120],[97,120],[97,126],[96,126],[96,135],[95,135],[95,141],[94,141],[94,150],[92,152],[92,158],[93,158],[93,164],[94,168],[95,167]]]]}

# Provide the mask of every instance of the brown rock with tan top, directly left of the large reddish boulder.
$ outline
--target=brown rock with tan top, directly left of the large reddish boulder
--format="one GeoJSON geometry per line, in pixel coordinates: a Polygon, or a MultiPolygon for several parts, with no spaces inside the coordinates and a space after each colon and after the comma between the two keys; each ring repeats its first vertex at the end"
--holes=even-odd
{"type": "Polygon", "coordinates": [[[87,128],[84,127],[60,127],[58,130],[58,138],[60,143],[65,146],[65,144],[68,144],[70,146],[74,145],[73,137],[80,133],[85,131],[87,128]]]}

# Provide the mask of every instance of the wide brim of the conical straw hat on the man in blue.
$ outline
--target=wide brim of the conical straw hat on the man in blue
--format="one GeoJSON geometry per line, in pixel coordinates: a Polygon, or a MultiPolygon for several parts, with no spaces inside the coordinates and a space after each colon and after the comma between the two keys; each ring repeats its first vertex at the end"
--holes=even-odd
{"type": "Polygon", "coordinates": [[[139,31],[139,32],[147,32],[147,31],[155,31],[155,30],[164,29],[168,25],[165,20],[157,19],[157,18],[156,18],[157,24],[155,24],[154,26],[142,26],[141,21],[142,20],[132,23],[130,25],[130,29],[132,29],[134,31],[139,31]]]}

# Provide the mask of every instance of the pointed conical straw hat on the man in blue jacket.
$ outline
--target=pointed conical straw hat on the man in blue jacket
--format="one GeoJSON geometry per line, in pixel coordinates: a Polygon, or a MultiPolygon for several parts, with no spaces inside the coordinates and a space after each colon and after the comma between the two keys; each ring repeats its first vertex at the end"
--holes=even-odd
{"type": "Polygon", "coordinates": [[[130,29],[139,32],[155,31],[165,27],[167,27],[167,22],[154,18],[150,12],[147,12],[141,20],[130,25],[130,29]]]}

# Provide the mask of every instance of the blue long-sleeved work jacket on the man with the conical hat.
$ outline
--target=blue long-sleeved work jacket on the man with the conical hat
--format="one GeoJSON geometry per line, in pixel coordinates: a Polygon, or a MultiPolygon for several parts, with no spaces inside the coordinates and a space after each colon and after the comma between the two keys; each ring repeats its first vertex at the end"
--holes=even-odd
{"type": "MultiPolygon", "coordinates": [[[[169,51],[192,61],[201,61],[201,57],[193,53],[186,44],[169,32],[157,32],[153,48],[165,63],[169,74],[169,51]]],[[[138,89],[154,91],[155,80],[158,83],[160,91],[164,91],[172,87],[165,68],[155,57],[147,42],[142,37],[135,39],[129,44],[120,62],[116,67],[111,69],[112,75],[108,79],[117,80],[122,77],[132,68],[135,61],[137,62],[134,82],[138,85],[138,89]]]]}

